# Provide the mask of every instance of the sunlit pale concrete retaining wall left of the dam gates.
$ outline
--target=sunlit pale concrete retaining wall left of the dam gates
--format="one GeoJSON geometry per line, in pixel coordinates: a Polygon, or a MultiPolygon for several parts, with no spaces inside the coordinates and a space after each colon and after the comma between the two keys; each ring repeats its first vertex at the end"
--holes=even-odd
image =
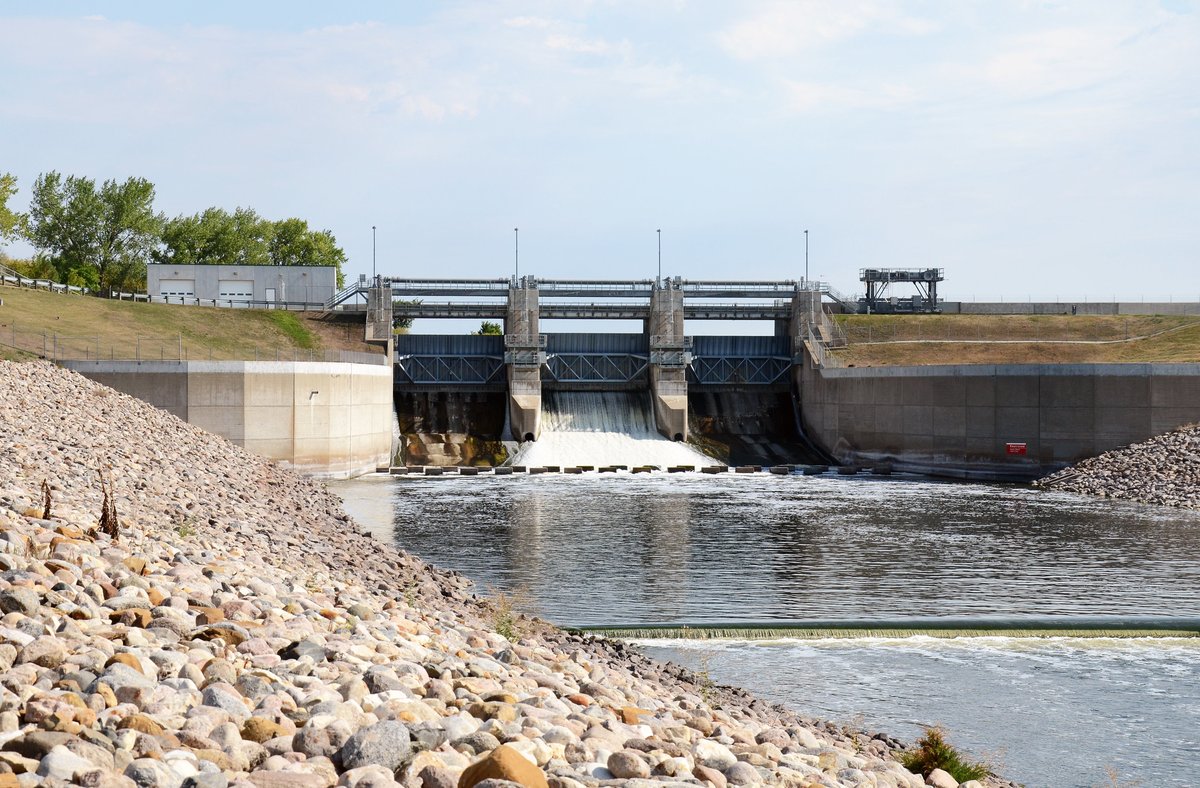
{"type": "Polygon", "coordinates": [[[391,459],[391,367],[316,361],[64,366],[305,474],[358,476],[391,459]]]}

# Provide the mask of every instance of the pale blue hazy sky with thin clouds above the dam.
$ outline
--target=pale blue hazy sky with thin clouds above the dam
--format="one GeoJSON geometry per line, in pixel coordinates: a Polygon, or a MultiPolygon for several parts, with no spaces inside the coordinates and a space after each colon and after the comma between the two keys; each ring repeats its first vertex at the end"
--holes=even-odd
{"type": "MultiPolygon", "coordinates": [[[[0,172],[300,216],[349,272],[1200,299],[1200,2],[0,2],[0,172]]],[[[20,254],[23,247],[10,253],[20,254]]]]}

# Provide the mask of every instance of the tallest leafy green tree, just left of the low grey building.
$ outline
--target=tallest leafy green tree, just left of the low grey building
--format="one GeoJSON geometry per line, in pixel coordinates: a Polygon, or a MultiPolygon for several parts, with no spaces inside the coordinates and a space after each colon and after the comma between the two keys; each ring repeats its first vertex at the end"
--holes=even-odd
{"type": "Polygon", "coordinates": [[[162,217],[154,212],[154,184],[104,181],[56,172],[34,181],[26,236],[59,275],[88,288],[144,287],[145,264],[157,246],[162,217]]]}

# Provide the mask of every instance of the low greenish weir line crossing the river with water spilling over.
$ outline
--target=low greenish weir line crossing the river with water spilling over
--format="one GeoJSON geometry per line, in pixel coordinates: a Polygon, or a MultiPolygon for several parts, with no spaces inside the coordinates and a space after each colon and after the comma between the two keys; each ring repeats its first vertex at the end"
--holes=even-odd
{"type": "Polygon", "coordinates": [[[1200,638],[1200,618],[1174,616],[1040,616],[816,619],[797,621],[728,621],[697,624],[629,624],[564,626],[569,632],[605,637],[658,639],[827,639],[827,638],[1200,638]]]}

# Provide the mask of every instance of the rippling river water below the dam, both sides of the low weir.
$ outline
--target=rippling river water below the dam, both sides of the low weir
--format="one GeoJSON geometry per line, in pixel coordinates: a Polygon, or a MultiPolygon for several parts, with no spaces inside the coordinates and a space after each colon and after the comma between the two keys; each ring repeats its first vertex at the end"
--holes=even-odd
{"type": "MultiPolygon", "coordinates": [[[[605,475],[331,485],[380,537],[562,624],[1196,616],[1200,515],[905,479],[605,475]]],[[[1200,782],[1200,644],[653,642],[803,714],[941,722],[1030,786],[1200,782]]]]}

